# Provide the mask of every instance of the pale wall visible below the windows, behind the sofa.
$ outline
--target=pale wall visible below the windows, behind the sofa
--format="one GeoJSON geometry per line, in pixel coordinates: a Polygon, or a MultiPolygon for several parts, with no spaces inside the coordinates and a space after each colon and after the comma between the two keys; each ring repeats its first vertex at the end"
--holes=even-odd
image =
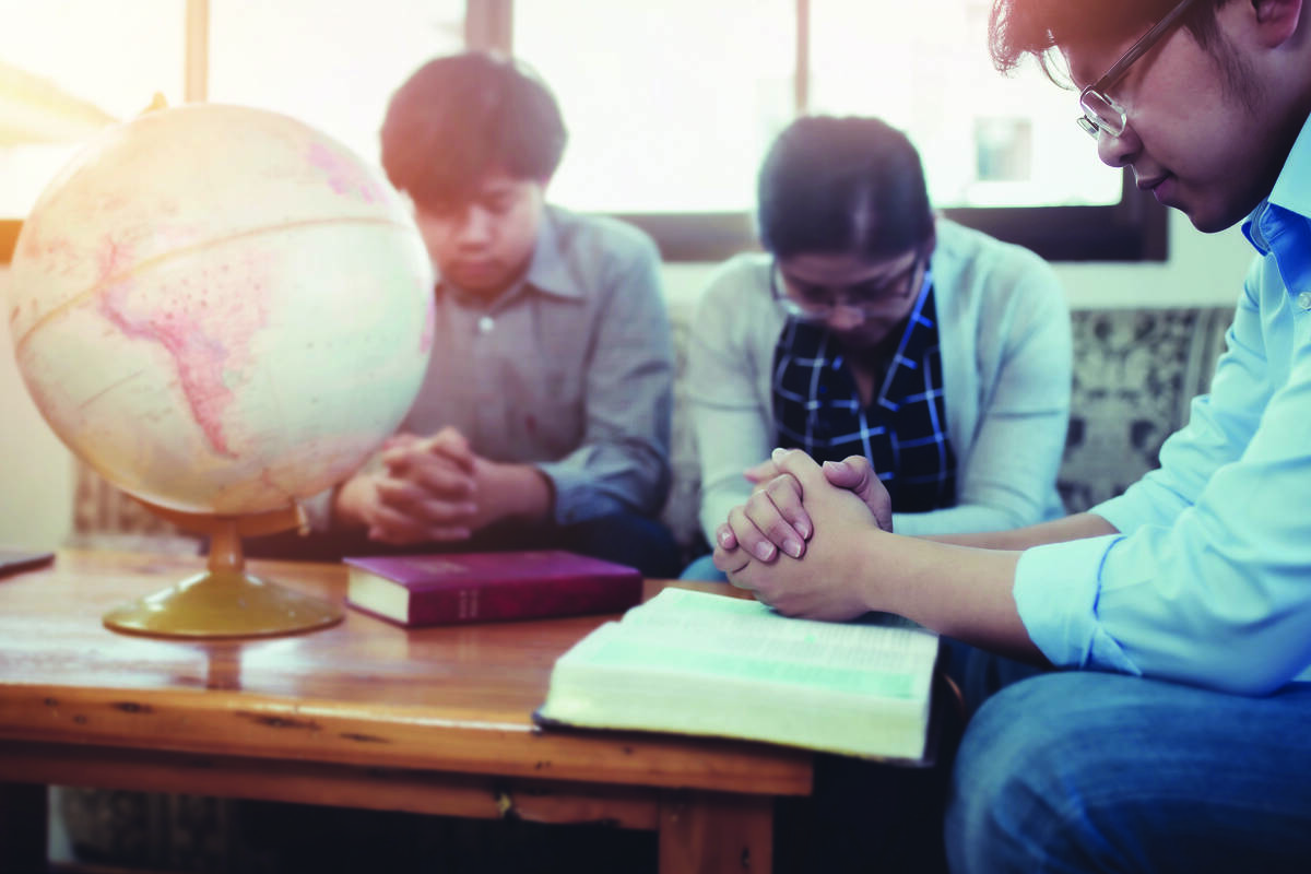
{"type": "MultiPolygon", "coordinates": [[[[1172,214],[1169,233],[1164,263],[1057,265],[1071,305],[1231,305],[1252,257],[1242,232],[1202,235],[1172,214]]],[[[667,294],[695,297],[713,267],[670,265],[667,294]]],[[[0,297],[7,279],[0,267],[0,297]]],[[[8,320],[0,320],[0,544],[55,545],[71,528],[71,457],[28,397],[9,352],[8,320]]]]}

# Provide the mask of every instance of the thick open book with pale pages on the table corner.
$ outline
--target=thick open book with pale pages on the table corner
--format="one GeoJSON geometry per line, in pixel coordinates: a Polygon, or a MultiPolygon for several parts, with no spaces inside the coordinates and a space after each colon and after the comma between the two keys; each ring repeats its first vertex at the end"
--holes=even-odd
{"type": "Polygon", "coordinates": [[[819,622],[666,588],[561,655],[534,715],[920,761],[937,649],[898,616],[819,622]]]}

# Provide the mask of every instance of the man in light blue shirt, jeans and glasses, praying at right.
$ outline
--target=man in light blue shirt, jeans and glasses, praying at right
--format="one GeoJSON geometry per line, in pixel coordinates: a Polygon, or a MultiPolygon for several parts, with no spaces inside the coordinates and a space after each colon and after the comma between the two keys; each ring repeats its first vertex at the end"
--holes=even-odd
{"type": "Polygon", "coordinates": [[[954,871],[1304,871],[1311,4],[994,0],[991,38],[1002,68],[1065,64],[1103,161],[1200,231],[1242,227],[1255,258],[1210,392],[1125,494],[1012,532],[888,533],[863,459],[783,453],[716,563],[788,615],[886,609],[1068,668],[971,719],[954,871]],[[753,558],[797,525],[802,558],[753,558]]]}

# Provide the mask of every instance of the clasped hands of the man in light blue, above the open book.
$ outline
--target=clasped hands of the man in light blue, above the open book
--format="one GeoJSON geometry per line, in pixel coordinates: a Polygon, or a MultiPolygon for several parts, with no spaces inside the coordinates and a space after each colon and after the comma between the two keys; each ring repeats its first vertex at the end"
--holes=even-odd
{"type": "Polygon", "coordinates": [[[873,609],[860,545],[890,532],[891,502],[863,456],[822,466],[797,449],[746,472],[756,484],[716,531],[714,566],[787,616],[847,620],[873,609]]]}

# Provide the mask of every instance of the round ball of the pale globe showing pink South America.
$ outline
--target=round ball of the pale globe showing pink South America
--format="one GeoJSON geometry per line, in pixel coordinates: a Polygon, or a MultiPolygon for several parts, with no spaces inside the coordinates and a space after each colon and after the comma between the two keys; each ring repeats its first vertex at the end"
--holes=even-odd
{"type": "Polygon", "coordinates": [[[5,311],[37,408],[106,480],[177,519],[281,519],[413,404],[431,287],[409,210],[350,149],[197,104],[105,130],[49,183],[5,311]]]}

